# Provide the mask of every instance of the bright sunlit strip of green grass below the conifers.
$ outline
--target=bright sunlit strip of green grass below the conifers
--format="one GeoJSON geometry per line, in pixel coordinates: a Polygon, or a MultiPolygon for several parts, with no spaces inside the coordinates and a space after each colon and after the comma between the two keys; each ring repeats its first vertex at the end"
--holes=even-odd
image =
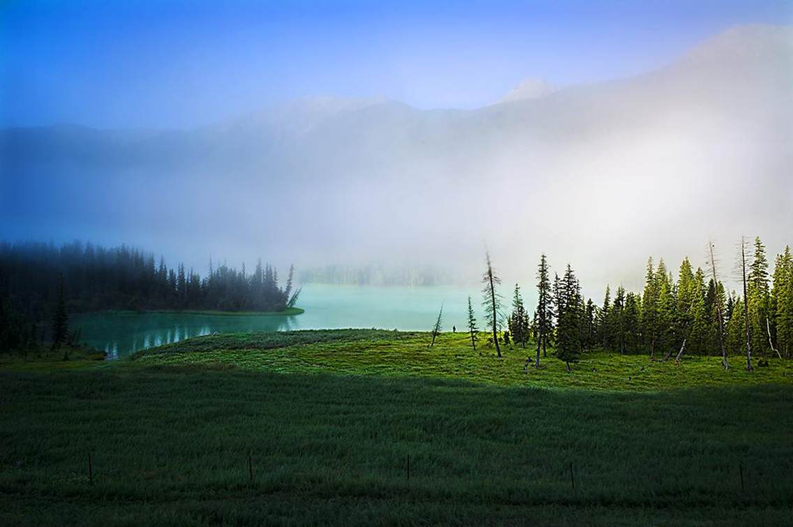
{"type": "MultiPolygon", "coordinates": [[[[484,337],[484,335],[483,335],[484,337]]],[[[730,357],[724,370],[720,357],[684,356],[675,361],[650,361],[646,355],[584,353],[567,372],[554,357],[541,357],[524,369],[534,349],[481,346],[474,352],[465,334],[441,334],[428,348],[430,336],[420,332],[383,330],[315,330],[284,333],[242,333],[191,338],[146,350],[136,365],[226,364],[251,371],[337,373],[343,375],[426,376],[488,384],[590,390],[655,391],[734,384],[793,384],[793,361],[769,358],[767,368],[745,369],[744,357],[730,357]]],[[[482,338],[481,340],[485,340],[482,338]]]]}

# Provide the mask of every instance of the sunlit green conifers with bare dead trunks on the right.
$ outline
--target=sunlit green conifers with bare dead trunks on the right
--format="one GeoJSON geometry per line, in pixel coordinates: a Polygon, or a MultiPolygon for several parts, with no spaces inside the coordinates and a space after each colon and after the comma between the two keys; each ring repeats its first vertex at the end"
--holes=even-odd
{"type": "MultiPolygon", "coordinates": [[[[786,246],[768,273],[768,257],[760,238],[749,244],[741,239],[735,269],[741,279],[741,292],[728,291],[718,268],[714,246],[709,244],[706,269],[694,269],[688,258],[680,263],[675,280],[665,262],[646,266],[642,292],[629,292],[619,286],[612,292],[606,286],[603,303],[584,299],[571,265],[560,277],[550,276],[545,254],[537,269],[538,304],[531,319],[523,304],[519,285],[504,314],[497,291],[500,279],[492,268],[489,254],[482,278],[482,307],[485,311],[488,344],[500,357],[501,343],[535,349],[526,367],[539,367],[541,357],[551,347],[557,357],[570,364],[581,353],[604,349],[616,353],[648,353],[651,359],[680,360],[684,353],[718,354],[722,365],[730,366],[729,355],[745,356],[745,367],[766,365],[766,357],[791,357],[793,353],[793,254],[786,246]]],[[[471,344],[477,346],[477,322],[468,299],[468,330],[471,344]]]]}

